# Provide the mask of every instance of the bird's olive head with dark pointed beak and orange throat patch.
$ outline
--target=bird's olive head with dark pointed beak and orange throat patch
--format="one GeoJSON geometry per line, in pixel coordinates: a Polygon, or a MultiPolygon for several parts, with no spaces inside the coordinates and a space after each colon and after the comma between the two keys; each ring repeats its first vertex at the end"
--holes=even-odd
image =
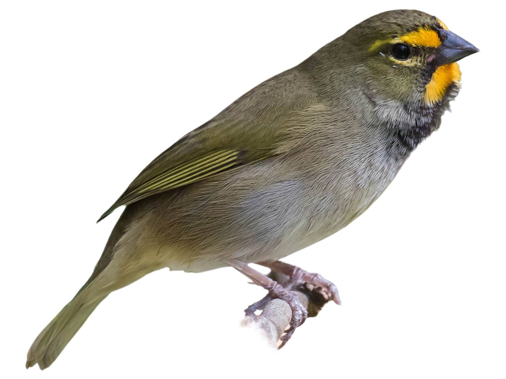
{"type": "Polygon", "coordinates": [[[478,52],[437,17],[412,10],[375,15],[345,34],[377,96],[437,105],[459,86],[458,60],[478,52]]]}

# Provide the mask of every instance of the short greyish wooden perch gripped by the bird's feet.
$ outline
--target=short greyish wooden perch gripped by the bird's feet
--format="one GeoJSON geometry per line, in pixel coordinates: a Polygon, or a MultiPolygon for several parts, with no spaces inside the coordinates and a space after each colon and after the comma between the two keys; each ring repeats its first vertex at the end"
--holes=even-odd
{"type": "MultiPolygon", "coordinates": [[[[318,287],[307,283],[293,283],[288,276],[273,271],[268,276],[297,296],[301,305],[308,310],[308,317],[315,317],[329,301],[318,287]]],[[[290,322],[291,315],[292,311],[287,302],[272,299],[261,314],[246,315],[240,326],[256,329],[269,345],[281,348],[284,344],[280,343],[280,338],[290,322]]]]}

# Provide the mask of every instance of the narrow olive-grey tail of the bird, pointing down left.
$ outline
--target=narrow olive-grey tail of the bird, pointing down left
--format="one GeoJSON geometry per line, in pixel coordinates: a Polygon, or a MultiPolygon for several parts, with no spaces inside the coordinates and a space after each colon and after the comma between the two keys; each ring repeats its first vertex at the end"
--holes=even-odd
{"type": "Polygon", "coordinates": [[[74,297],[40,332],[28,351],[26,368],[36,363],[41,370],[49,367],[93,310],[107,296],[87,301],[82,295],[83,293],[79,293],[74,297]]]}

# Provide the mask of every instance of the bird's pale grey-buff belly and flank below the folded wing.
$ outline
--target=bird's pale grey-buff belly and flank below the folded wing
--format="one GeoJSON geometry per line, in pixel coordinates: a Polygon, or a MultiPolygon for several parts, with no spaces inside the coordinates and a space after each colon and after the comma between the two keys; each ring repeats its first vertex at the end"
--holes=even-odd
{"type": "Polygon", "coordinates": [[[338,162],[346,169],[312,172],[294,162],[261,162],[151,198],[156,206],[132,238],[140,254],[154,251],[156,264],[191,272],[224,267],[230,259],[281,259],[357,218],[401,165],[350,159],[338,162]]]}

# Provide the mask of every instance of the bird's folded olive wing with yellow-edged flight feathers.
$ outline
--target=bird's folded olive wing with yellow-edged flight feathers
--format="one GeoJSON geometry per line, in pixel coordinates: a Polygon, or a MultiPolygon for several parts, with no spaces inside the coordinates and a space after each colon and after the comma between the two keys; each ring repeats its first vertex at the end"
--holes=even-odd
{"type": "Polygon", "coordinates": [[[98,221],[121,205],[283,154],[280,141],[316,98],[274,90],[268,91],[268,96],[263,92],[262,101],[258,101],[251,93],[258,88],[160,154],[98,221]]]}

